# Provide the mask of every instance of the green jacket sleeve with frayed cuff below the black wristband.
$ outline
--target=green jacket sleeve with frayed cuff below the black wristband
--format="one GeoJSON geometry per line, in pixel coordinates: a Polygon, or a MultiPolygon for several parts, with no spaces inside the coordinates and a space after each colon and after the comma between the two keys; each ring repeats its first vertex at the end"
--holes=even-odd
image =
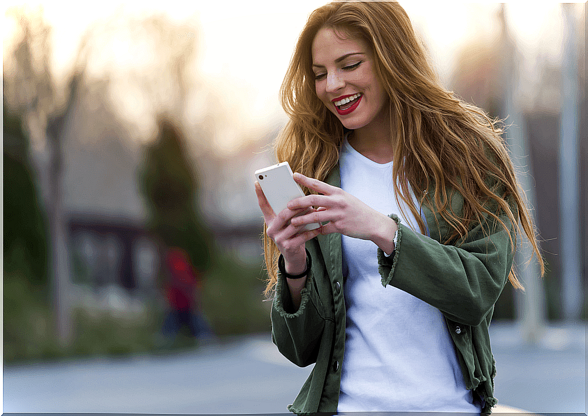
{"type": "Polygon", "coordinates": [[[316,363],[325,316],[312,270],[306,277],[298,310],[293,307],[286,278],[278,274],[271,319],[272,341],[282,355],[299,367],[316,363]]]}

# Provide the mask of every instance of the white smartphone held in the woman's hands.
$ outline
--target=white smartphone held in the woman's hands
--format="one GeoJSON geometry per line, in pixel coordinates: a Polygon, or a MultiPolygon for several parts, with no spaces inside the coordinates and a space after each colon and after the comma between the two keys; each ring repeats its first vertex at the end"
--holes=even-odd
{"type": "MultiPolygon", "coordinates": [[[[255,180],[259,182],[263,194],[276,215],[286,208],[289,201],[304,196],[304,192],[296,183],[288,162],[278,163],[255,171],[255,180]]],[[[320,227],[318,223],[305,226],[305,230],[320,227]]]]}

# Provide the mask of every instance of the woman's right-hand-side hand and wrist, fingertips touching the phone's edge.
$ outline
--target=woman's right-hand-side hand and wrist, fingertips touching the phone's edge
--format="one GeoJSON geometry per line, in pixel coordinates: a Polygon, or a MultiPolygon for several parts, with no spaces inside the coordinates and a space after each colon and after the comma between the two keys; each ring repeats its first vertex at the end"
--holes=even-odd
{"type": "Polygon", "coordinates": [[[292,218],[292,226],[303,227],[306,224],[328,222],[321,227],[322,234],[340,233],[358,239],[372,240],[386,254],[392,253],[393,238],[398,228],[393,219],[377,212],[339,187],[300,173],[294,174],[294,180],[320,194],[296,198],[288,203],[288,208],[292,212],[318,207],[312,212],[292,218]]]}

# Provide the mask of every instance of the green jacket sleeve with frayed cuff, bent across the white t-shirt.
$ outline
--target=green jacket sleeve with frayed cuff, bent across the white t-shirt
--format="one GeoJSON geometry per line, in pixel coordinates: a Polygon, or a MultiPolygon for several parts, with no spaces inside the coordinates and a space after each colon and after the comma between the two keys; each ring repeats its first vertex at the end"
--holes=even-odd
{"type": "MultiPolygon", "coordinates": [[[[397,223],[399,219],[391,215],[397,223]]],[[[516,218],[516,216],[515,216],[516,218]]],[[[469,326],[482,323],[500,296],[513,262],[508,226],[486,218],[457,246],[443,245],[399,223],[394,256],[378,249],[382,284],[391,284],[438,308],[450,320],[469,326]]]]}

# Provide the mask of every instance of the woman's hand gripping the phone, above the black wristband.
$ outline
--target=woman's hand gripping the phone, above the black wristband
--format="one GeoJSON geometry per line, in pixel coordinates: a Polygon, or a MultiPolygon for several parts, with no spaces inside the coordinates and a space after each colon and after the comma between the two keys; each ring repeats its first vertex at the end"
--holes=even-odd
{"type": "Polygon", "coordinates": [[[305,243],[318,236],[320,228],[308,231],[304,229],[306,224],[292,224],[292,219],[305,211],[315,210],[312,208],[309,210],[309,207],[300,209],[286,208],[276,215],[257,181],[255,182],[255,193],[258,197],[259,208],[263,213],[263,219],[265,219],[268,226],[266,233],[282,253],[286,271],[290,274],[302,273],[306,269],[305,243]]]}

